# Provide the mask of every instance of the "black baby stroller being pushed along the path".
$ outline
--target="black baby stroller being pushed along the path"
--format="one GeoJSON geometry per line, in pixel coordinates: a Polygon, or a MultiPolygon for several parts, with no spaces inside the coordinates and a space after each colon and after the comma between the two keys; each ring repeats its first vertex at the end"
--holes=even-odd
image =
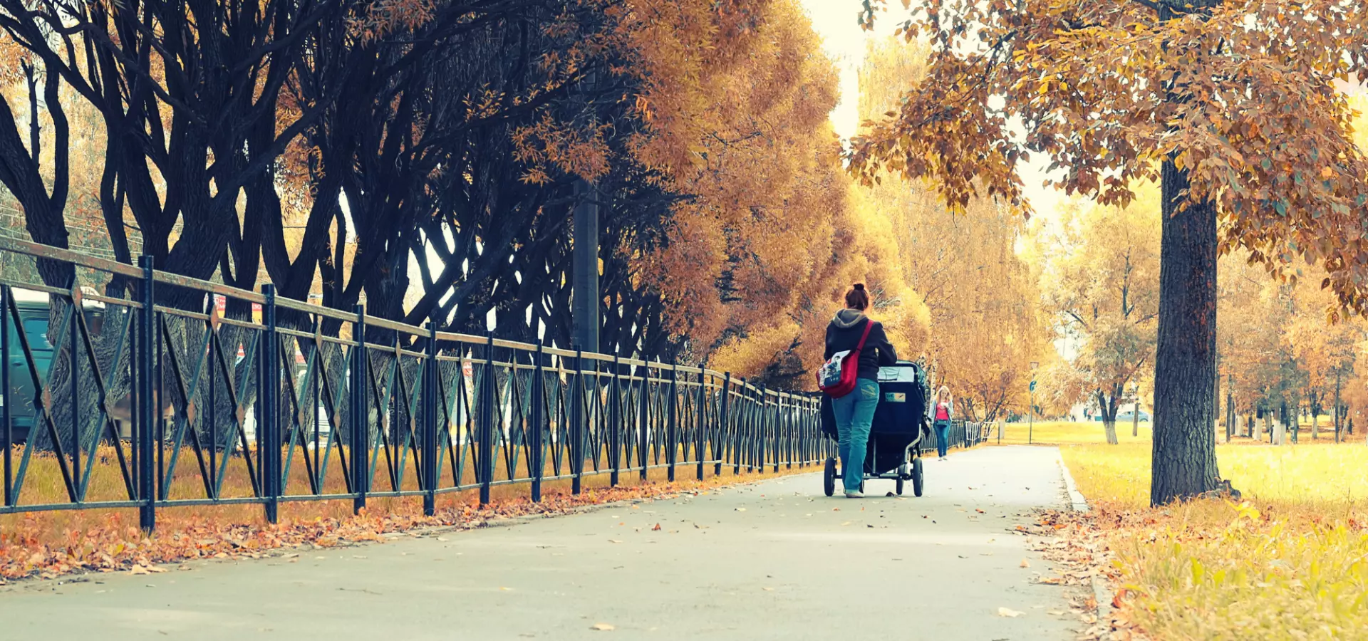
{"type": "MultiPolygon", "coordinates": [[[[903,493],[903,481],[912,481],[912,493],[922,495],[922,437],[930,435],[926,418],[926,376],[915,362],[897,361],[878,369],[878,409],[869,433],[869,451],[860,489],[870,478],[888,478],[903,493]]],[[[834,443],[836,413],[830,396],[822,396],[822,433],[834,443]]],[[[822,489],[826,496],[836,493],[836,480],[845,470],[836,469],[836,456],[826,458],[822,489]]]]}

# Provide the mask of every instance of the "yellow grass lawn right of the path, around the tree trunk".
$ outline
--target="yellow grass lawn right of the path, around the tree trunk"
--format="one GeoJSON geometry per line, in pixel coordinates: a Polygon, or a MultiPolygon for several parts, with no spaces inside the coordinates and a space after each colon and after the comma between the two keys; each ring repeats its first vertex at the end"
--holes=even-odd
{"type": "MultiPolygon", "coordinates": [[[[1129,435],[1129,432],[1126,432],[1129,435]]],[[[1324,436],[1324,435],[1323,435],[1324,436]]],[[[1327,447],[1328,446],[1328,447],[1327,447]]],[[[1062,447],[1152,638],[1368,638],[1368,447],[1216,448],[1248,502],[1149,508],[1149,443],[1062,447]]]]}

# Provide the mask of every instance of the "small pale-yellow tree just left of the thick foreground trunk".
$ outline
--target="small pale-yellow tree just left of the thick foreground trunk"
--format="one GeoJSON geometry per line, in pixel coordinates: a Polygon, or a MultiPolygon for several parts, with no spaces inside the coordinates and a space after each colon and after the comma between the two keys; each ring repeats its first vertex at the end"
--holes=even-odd
{"type": "Polygon", "coordinates": [[[1037,242],[1041,294],[1062,331],[1078,340],[1074,366],[1116,444],[1116,411],[1127,388],[1153,366],[1159,314],[1157,190],[1130,206],[1074,204],[1037,242]]]}

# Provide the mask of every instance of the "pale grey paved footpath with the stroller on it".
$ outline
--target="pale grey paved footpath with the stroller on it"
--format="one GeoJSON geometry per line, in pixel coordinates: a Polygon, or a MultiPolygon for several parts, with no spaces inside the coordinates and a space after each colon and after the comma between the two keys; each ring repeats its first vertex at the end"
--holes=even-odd
{"type": "Polygon", "coordinates": [[[0,593],[0,638],[1016,641],[1079,627],[1049,614],[1064,595],[1033,582],[1048,564],[1010,532],[1066,504],[1055,448],[928,461],[919,499],[911,484],[884,496],[892,481],[863,500],[821,485],[803,474],[295,563],[23,584],[0,593]]]}

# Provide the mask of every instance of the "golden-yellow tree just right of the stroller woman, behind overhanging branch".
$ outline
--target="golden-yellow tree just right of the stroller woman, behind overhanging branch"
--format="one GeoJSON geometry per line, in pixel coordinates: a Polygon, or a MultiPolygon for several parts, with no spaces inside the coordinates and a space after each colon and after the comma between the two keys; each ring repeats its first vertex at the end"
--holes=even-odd
{"type": "MultiPolygon", "coordinates": [[[[926,74],[929,48],[871,41],[859,70],[859,115],[895,108],[900,83],[926,74]]],[[[971,420],[995,420],[1023,406],[1030,362],[1044,343],[1036,283],[1016,254],[1023,226],[1008,208],[974,198],[945,206],[925,182],[884,174],[860,187],[873,215],[888,219],[902,277],[926,305],[928,357],[971,420]]],[[[869,242],[869,241],[867,241],[869,242]]]]}

